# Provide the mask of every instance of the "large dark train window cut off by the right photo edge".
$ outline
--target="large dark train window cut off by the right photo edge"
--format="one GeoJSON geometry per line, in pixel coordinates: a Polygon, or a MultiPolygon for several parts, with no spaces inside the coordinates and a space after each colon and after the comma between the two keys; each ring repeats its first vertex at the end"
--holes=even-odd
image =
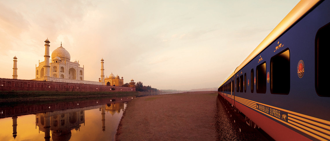
{"type": "MultiPolygon", "coordinates": [[[[330,23],[321,27],[315,37],[315,90],[317,95],[330,97],[327,65],[330,51],[330,23]]],[[[302,70],[304,71],[304,70],[302,70]]]]}

